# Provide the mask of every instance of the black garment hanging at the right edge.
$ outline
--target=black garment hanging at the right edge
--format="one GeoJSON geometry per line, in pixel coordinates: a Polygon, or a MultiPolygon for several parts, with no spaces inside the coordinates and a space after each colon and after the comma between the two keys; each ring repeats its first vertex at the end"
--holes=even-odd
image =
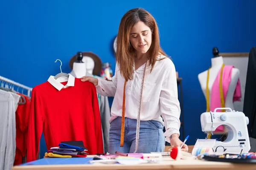
{"type": "Polygon", "coordinates": [[[243,112],[249,118],[249,137],[256,139],[256,47],[249,53],[243,112]]]}

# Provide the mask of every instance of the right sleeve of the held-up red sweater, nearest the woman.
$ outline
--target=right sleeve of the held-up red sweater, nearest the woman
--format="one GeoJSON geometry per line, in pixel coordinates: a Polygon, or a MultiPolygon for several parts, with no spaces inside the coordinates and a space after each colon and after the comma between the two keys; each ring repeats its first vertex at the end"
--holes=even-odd
{"type": "Polygon", "coordinates": [[[99,102],[98,96],[96,93],[96,88],[92,84],[92,88],[90,88],[90,95],[92,97],[92,107],[93,107],[93,115],[94,115],[94,127],[95,127],[95,136],[97,141],[97,151],[98,153],[103,153],[103,139],[102,139],[102,125],[101,118],[99,112],[99,102]]]}

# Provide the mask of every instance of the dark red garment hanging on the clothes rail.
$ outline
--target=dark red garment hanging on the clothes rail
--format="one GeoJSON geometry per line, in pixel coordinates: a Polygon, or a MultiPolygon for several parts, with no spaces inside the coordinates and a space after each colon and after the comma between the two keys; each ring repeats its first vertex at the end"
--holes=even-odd
{"type": "Polygon", "coordinates": [[[28,119],[30,99],[28,96],[19,94],[26,99],[24,105],[18,105],[16,110],[16,154],[14,165],[22,164],[23,157],[26,156],[27,136],[28,136],[28,119]]]}

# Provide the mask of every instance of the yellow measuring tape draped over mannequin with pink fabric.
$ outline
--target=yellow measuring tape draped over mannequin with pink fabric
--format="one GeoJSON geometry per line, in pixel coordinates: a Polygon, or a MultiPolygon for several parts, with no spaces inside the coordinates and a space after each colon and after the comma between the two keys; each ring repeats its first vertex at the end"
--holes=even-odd
{"type": "MultiPolygon", "coordinates": [[[[225,101],[224,101],[224,95],[223,95],[223,89],[222,89],[222,75],[223,75],[223,68],[224,68],[224,63],[221,66],[221,73],[220,73],[220,80],[219,80],[219,88],[220,88],[220,96],[221,96],[221,108],[225,108],[225,101]]],[[[211,67],[210,67],[211,68],[211,67]]],[[[209,104],[209,70],[207,71],[207,82],[206,82],[206,108],[207,108],[207,112],[210,111],[210,104],[209,104]]],[[[222,112],[224,112],[225,110],[221,110],[222,112]]],[[[212,134],[211,132],[209,132],[207,138],[211,139],[212,134]]]]}

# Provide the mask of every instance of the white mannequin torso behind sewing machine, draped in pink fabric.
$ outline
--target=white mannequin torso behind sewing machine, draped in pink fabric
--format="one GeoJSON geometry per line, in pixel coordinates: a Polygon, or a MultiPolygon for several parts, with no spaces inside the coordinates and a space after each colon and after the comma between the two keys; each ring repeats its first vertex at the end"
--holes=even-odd
{"type": "MultiPolygon", "coordinates": [[[[213,82],[215,81],[218,72],[221,69],[223,62],[223,57],[215,57],[212,58],[212,67],[209,70],[209,85],[208,85],[208,89],[209,89],[209,104],[211,103],[211,91],[212,91],[212,85],[213,82]]],[[[204,93],[205,99],[206,98],[206,83],[207,83],[207,70],[198,74],[198,79],[201,85],[201,89],[204,93]]],[[[237,68],[232,68],[232,74],[231,74],[231,82],[227,91],[227,96],[226,96],[226,100],[225,100],[225,107],[226,108],[231,108],[232,110],[234,110],[234,105],[233,105],[233,95],[236,89],[236,84],[237,81],[239,79],[239,69],[237,68]]]]}

